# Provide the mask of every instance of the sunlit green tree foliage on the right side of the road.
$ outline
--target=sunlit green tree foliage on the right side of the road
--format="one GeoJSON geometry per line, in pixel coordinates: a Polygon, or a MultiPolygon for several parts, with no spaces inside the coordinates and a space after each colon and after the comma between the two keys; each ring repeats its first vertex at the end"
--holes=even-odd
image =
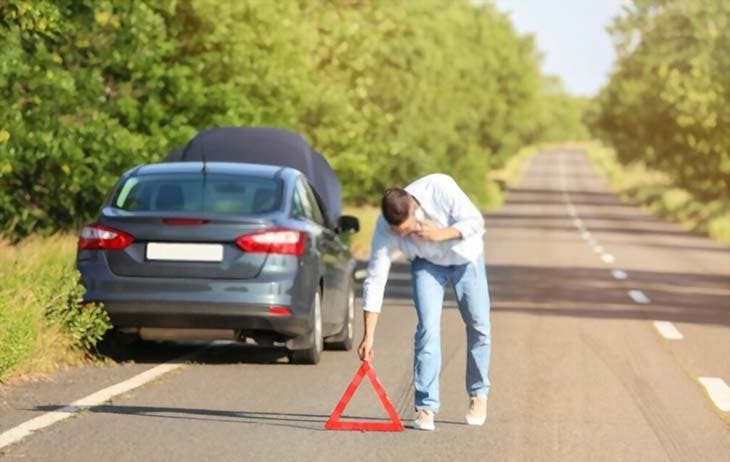
{"type": "Polygon", "coordinates": [[[700,199],[730,197],[730,3],[634,0],[612,33],[618,62],[592,127],[622,162],[700,199]]]}

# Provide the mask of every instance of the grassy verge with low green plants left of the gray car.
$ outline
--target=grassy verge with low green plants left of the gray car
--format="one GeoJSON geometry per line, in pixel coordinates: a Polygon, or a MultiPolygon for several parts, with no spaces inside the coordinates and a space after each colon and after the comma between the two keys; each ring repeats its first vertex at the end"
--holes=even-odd
{"type": "Polygon", "coordinates": [[[97,306],[80,306],[76,239],[0,242],[0,382],[79,364],[108,328],[97,306]]]}

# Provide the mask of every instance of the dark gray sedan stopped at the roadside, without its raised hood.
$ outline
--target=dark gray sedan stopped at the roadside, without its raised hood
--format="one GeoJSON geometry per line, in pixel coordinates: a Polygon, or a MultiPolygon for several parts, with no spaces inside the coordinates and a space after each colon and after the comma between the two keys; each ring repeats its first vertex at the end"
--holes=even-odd
{"type": "Polygon", "coordinates": [[[288,167],[170,162],[125,173],[77,265],[85,301],[114,334],[251,340],[316,364],[352,347],[356,218],[327,223],[307,178],[288,167]]]}

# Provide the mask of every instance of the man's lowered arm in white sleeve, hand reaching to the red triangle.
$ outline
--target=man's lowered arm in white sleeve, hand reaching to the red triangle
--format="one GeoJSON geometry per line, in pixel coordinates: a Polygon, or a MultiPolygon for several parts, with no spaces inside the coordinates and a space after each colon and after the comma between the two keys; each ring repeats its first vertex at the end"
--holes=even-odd
{"type": "Polygon", "coordinates": [[[375,326],[378,323],[378,313],[383,306],[385,284],[390,272],[392,238],[388,232],[385,219],[380,216],[375,225],[373,234],[368,275],[363,283],[363,303],[365,332],[358,348],[358,355],[362,361],[373,359],[373,343],[375,340],[375,326]]]}

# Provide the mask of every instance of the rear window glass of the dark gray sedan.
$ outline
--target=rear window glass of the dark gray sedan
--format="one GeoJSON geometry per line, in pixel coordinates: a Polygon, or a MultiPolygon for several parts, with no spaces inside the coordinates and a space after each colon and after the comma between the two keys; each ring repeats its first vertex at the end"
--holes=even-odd
{"type": "Polygon", "coordinates": [[[130,212],[259,214],[277,210],[281,180],[253,175],[150,174],[128,178],[112,206],[130,212]]]}

